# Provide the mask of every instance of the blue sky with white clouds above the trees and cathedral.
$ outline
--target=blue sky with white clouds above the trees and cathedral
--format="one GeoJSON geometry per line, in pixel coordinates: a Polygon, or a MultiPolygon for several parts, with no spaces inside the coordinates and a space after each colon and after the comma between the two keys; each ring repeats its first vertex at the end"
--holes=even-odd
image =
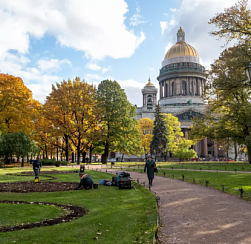
{"type": "Polygon", "coordinates": [[[142,106],[181,26],[209,69],[224,40],[210,18],[236,0],[0,0],[0,72],[21,77],[44,103],[52,84],[76,76],[98,87],[116,80],[142,106]]]}

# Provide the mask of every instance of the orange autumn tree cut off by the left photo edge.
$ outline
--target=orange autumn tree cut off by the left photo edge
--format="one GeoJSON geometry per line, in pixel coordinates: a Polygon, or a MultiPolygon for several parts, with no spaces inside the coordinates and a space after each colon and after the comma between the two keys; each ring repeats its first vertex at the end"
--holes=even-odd
{"type": "Polygon", "coordinates": [[[33,98],[19,77],[0,73],[0,130],[30,134],[33,98]]]}

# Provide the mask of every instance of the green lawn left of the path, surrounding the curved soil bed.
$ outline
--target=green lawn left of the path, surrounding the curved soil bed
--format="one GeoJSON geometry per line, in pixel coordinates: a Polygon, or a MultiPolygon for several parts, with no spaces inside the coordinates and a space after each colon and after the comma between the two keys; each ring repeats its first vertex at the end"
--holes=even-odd
{"type": "MultiPolygon", "coordinates": [[[[12,170],[12,173],[20,171],[24,171],[24,169],[12,170]]],[[[25,169],[25,171],[27,170],[25,169]]],[[[1,179],[4,173],[0,170],[1,179]]],[[[97,171],[86,170],[86,173],[92,176],[94,182],[104,178],[111,179],[112,177],[111,174],[97,171]]],[[[79,182],[78,175],[74,173],[56,174],[53,176],[58,177],[55,181],[79,182]]],[[[5,175],[4,177],[11,180],[11,177],[15,176],[5,175]]],[[[22,179],[33,180],[34,176],[22,177],[22,179]]],[[[144,187],[135,183],[133,185],[136,190],[134,188],[131,190],[119,190],[117,187],[99,186],[97,190],[88,191],[27,194],[0,193],[1,200],[74,204],[88,210],[87,215],[69,223],[0,233],[1,243],[151,243],[157,218],[155,197],[144,187]],[[96,237],[98,239],[95,239],[96,237]]],[[[16,205],[10,204],[9,208],[16,211],[16,205]]],[[[22,212],[28,219],[32,216],[31,211],[28,209],[22,212]]],[[[43,211],[39,212],[38,217],[46,218],[43,211]]],[[[6,220],[8,219],[7,216],[4,219],[4,221],[8,222],[6,220]]]]}

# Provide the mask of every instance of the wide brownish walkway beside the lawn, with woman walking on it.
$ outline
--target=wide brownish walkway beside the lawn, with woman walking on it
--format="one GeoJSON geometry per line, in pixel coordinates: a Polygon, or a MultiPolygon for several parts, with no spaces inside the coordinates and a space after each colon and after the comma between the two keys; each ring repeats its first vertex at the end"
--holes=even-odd
{"type": "MultiPolygon", "coordinates": [[[[145,174],[130,174],[148,182],[145,174]]],[[[160,197],[161,243],[251,244],[250,202],[210,187],[160,176],[155,176],[151,189],[160,197]]]]}

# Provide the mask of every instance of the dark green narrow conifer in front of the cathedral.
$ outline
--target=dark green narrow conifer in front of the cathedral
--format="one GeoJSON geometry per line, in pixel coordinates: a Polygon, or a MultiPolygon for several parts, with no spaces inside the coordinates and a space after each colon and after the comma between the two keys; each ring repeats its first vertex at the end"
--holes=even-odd
{"type": "Polygon", "coordinates": [[[151,153],[162,153],[166,160],[168,151],[168,128],[165,123],[165,115],[161,113],[160,105],[155,109],[153,122],[153,138],[150,145],[151,153]]]}

